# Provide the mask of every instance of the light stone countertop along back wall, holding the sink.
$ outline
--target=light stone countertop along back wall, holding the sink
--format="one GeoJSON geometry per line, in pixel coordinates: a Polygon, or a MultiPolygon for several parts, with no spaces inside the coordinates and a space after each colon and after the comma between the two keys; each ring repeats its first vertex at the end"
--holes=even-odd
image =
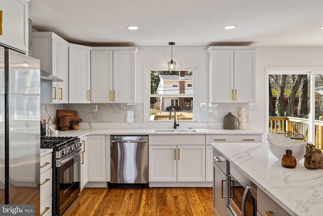
{"type": "MultiPolygon", "coordinates": [[[[167,128],[80,128],[78,130],[59,131],[60,137],[79,137],[87,135],[263,135],[254,129],[203,129],[194,128],[196,132],[155,132],[167,128]]],[[[179,128],[183,129],[183,128],[179,128]]]]}

